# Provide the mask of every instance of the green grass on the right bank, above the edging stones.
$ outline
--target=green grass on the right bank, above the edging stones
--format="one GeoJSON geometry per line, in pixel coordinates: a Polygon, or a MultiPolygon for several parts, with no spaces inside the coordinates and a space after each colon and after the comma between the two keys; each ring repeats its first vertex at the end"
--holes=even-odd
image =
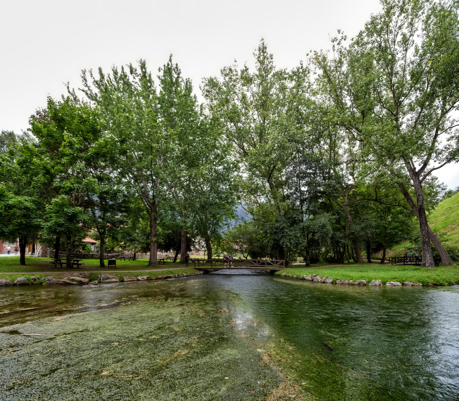
{"type": "Polygon", "coordinates": [[[379,265],[379,264],[360,264],[344,265],[336,267],[324,267],[320,269],[285,269],[282,272],[291,275],[317,274],[320,277],[332,277],[333,280],[381,280],[383,284],[388,281],[411,281],[428,285],[436,283],[440,285],[459,284],[459,266],[437,267],[426,269],[419,266],[403,265],[379,265]]]}

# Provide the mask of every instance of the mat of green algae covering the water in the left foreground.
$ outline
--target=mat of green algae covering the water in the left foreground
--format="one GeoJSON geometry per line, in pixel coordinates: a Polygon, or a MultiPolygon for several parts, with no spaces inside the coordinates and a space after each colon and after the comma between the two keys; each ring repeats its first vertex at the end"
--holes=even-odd
{"type": "Polygon", "coordinates": [[[42,336],[0,333],[0,399],[262,400],[279,385],[221,299],[174,291],[4,327],[42,336]]]}

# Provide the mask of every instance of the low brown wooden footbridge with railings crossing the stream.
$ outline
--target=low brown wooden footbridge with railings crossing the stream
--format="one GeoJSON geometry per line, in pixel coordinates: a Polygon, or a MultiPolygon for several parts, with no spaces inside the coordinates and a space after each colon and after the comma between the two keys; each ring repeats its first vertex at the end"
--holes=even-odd
{"type": "Polygon", "coordinates": [[[251,269],[268,270],[276,272],[285,268],[285,260],[269,259],[190,259],[194,268],[206,272],[214,272],[222,269],[251,269]]]}

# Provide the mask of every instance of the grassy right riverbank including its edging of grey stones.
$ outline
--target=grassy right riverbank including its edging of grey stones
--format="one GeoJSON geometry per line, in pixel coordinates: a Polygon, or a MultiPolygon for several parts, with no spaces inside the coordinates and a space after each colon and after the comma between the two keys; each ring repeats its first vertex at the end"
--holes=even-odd
{"type": "Polygon", "coordinates": [[[327,284],[353,285],[454,285],[459,284],[459,266],[427,269],[408,265],[345,265],[284,269],[276,275],[327,284]]]}

